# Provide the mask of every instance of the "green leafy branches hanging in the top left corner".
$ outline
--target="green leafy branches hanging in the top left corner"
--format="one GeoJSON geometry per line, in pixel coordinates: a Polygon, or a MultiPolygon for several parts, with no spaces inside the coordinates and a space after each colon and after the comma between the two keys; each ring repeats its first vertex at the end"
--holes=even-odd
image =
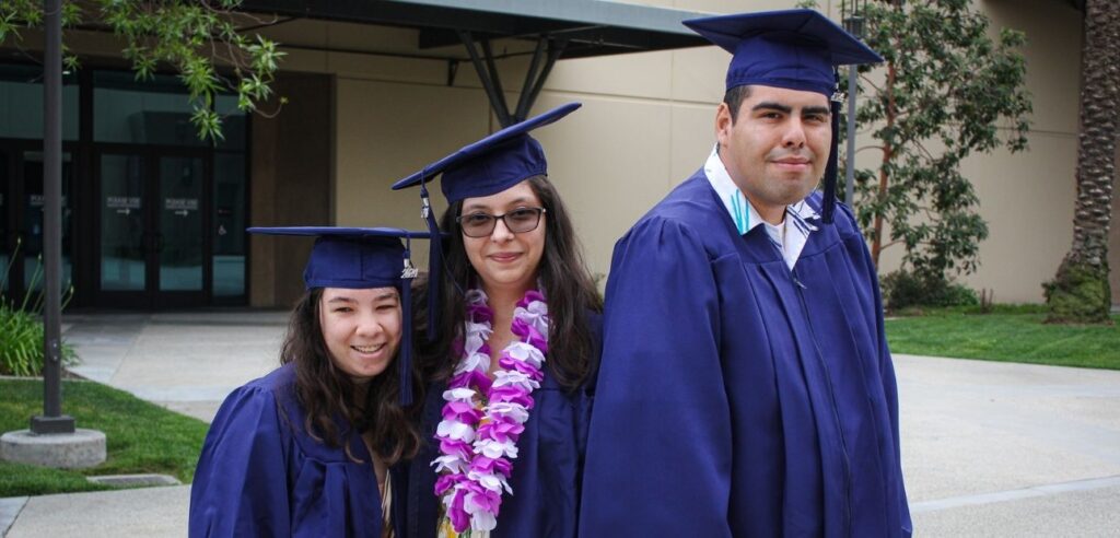
{"type": "MultiPolygon", "coordinates": [[[[121,54],[132,62],[137,78],[151,78],[160,68],[178,72],[200,138],[222,138],[222,118],[214,110],[218,93],[236,93],[245,112],[272,95],[284,53],[272,40],[239,30],[239,22],[261,22],[235,11],[241,0],[64,0],[62,6],[64,39],[65,29],[108,29],[121,39],[121,54]]],[[[41,0],[0,2],[0,44],[10,39],[18,46],[20,30],[43,26],[43,10],[41,0]]],[[[78,67],[68,49],[64,62],[78,67]]]]}

